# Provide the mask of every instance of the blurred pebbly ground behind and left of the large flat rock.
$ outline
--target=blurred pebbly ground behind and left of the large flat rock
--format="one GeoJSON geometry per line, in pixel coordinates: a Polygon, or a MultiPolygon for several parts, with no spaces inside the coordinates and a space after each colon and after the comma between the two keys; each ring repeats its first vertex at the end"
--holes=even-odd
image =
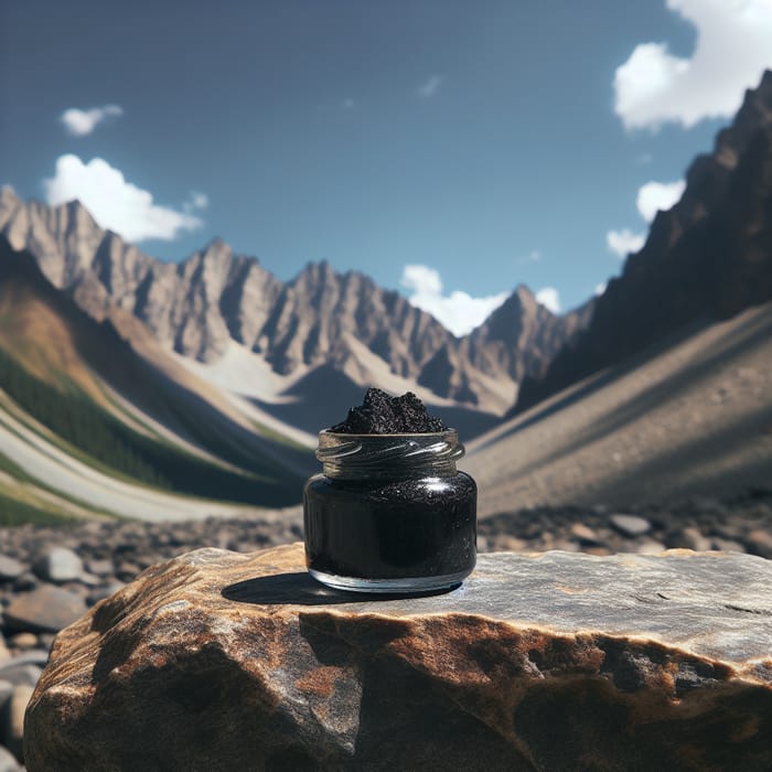
{"type": "MultiPolygon", "coordinates": [[[[298,512],[278,519],[0,529],[0,772],[19,770],[24,708],[56,632],[156,562],[199,547],[254,551],[302,538],[298,512]]],[[[539,507],[481,519],[481,551],[546,549],[744,551],[772,559],[772,490],[733,501],[691,497],[613,511],[539,507]]]]}

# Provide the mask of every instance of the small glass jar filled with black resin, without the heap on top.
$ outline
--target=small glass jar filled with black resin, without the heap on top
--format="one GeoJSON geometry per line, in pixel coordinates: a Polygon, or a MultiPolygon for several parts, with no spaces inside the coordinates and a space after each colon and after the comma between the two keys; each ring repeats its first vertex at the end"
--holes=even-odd
{"type": "Polygon", "coordinates": [[[319,581],[362,592],[461,583],[476,560],[478,486],[455,462],[455,430],[322,431],[322,473],[303,489],[305,564],[319,581]]]}

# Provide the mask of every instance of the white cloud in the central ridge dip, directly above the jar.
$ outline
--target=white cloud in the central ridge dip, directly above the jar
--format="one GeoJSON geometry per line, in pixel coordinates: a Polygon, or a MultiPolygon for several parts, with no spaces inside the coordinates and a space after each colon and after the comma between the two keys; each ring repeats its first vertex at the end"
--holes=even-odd
{"type": "Polygon", "coordinates": [[[411,305],[430,313],[459,337],[482,324],[508,298],[508,292],[472,298],[460,290],[443,296],[439,272],[421,265],[405,266],[401,285],[411,292],[411,305]]]}

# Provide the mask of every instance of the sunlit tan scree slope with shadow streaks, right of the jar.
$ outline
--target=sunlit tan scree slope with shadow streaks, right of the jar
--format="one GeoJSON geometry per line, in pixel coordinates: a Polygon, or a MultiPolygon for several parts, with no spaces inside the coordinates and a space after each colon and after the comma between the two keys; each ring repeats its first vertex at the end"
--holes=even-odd
{"type": "Polygon", "coordinates": [[[480,513],[772,485],[772,302],[671,335],[469,443],[480,513]]]}

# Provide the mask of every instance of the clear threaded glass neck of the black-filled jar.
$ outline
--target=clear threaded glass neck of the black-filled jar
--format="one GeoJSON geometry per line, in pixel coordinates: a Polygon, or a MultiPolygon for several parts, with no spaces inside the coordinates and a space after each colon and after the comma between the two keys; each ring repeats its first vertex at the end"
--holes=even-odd
{"type": "Polygon", "coordinates": [[[319,433],[317,458],[328,478],[404,480],[455,474],[464,454],[453,429],[421,435],[319,433]]]}

